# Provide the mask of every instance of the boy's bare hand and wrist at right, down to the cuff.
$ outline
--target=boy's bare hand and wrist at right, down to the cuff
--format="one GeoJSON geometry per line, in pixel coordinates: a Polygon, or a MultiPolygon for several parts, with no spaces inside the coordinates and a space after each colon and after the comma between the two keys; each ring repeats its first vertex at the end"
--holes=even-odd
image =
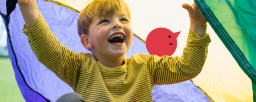
{"type": "Polygon", "coordinates": [[[207,28],[207,20],[203,16],[197,4],[191,5],[184,3],[182,7],[188,10],[190,17],[190,29],[196,32],[200,37],[205,36],[207,28]]]}

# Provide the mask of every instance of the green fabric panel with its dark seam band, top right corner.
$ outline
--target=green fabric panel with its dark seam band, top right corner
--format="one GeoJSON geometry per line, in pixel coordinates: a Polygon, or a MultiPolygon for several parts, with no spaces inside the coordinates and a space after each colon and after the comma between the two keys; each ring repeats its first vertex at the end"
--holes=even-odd
{"type": "Polygon", "coordinates": [[[195,0],[239,66],[256,83],[256,0],[195,0]]]}

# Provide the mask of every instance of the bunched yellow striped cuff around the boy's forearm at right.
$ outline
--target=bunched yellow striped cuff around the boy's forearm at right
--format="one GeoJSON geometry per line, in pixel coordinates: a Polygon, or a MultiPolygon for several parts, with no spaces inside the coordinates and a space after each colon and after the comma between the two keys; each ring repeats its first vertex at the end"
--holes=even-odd
{"type": "Polygon", "coordinates": [[[206,33],[206,35],[201,38],[200,36],[198,36],[198,34],[196,34],[196,32],[189,29],[188,39],[187,39],[188,45],[202,46],[202,45],[207,45],[210,42],[211,42],[211,39],[210,39],[209,33],[206,33]]]}

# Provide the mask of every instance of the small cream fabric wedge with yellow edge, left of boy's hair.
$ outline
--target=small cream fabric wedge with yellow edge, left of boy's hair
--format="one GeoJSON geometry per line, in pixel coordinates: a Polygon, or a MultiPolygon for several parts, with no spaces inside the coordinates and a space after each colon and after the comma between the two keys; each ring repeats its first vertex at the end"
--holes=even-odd
{"type": "Polygon", "coordinates": [[[72,10],[80,12],[88,3],[90,3],[92,0],[46,0],[46,1],[52,1],[54,3],[66,6],[72,10]]]}

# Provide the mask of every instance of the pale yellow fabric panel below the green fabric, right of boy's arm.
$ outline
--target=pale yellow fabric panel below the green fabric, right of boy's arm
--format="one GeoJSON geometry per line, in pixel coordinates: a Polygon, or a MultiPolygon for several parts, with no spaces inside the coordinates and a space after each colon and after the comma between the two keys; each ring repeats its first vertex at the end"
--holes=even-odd
{"type": "MultiPolygon", "coordinates": [[[[212,29],[212,28],[208,28],[212,29]]],[[[231,53],[214,34],[201,73],[193,80],[214,101],[253,101],[250,78],[242,71],[231,53]]]]}

